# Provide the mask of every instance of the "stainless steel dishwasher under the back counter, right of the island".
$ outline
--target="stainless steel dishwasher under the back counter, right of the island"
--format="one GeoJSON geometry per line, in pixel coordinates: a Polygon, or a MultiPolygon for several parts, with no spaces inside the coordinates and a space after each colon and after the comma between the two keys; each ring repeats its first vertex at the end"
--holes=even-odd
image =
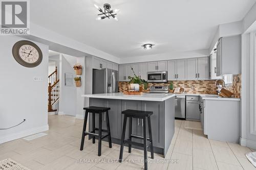
{"type": "Polygon", "coordinates": [[[175,118],[185,119],[185,95],[175,96],[175,118]]]}

